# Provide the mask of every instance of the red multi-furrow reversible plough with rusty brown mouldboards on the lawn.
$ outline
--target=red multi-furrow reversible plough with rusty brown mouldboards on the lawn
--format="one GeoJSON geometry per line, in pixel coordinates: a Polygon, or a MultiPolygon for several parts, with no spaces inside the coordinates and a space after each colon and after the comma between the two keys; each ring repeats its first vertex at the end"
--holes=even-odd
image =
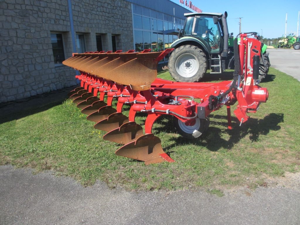
{"type": "Polygon", "coordinates": [[[184,83],[157,78],[158,62],[173,49],[74,53],[63,64],[81,73],[76,76],[80,87],[71,91],[69,98],[88,115],[88,120],[95,122],[95,129],[107,132],[105,140],[124,145],[116,155],[151,164],[173,162],[164,153],[161,140],[152,134],[153,123],[160,116],[172,115],[178,133],[192,139],[207,131],[208,115],[223,105],[227,107],[231,129],[233,104],[238,102],[234,114],[242,124],[249,118],[247,113],[255,113],[259,104],[266,102],[267,89],[256,84],[260,48],[258,40],[242,34],[240,44],[235,42],[233,81],[219,83],[184,83]],[[118,101],[116,109],[112,107],[114,99],[118,101]],[[129,117],[122,114],[124,104],[131,106],[129,117]],[[147,113],[145,134],[135,122],[137,112],[147,113]]]}

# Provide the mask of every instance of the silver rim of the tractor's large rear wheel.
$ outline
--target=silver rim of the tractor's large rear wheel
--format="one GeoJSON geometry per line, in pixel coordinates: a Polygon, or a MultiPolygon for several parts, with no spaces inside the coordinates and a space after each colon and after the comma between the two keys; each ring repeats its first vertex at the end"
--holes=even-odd
{"type": "Polygon", "coordinates": [[[183,77],[192,77],[199,70],[199,62],[197,58],[190,53],[180,55],[176,59],[175,66],[177,73],[183,77]]]}

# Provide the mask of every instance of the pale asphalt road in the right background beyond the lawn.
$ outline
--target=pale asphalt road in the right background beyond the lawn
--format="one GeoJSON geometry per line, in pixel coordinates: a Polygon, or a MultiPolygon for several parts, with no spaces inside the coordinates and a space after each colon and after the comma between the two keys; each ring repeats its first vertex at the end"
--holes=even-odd
{"type": "Polygon", "coordinates": [[[300,50],[267,49],[271,67],[280,70],[300,81],[300,50]]]}

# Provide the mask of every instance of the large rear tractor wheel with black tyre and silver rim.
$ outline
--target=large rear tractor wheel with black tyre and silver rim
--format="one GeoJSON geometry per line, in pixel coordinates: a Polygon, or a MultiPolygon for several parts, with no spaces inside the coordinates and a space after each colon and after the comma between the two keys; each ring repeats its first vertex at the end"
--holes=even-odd
{"type": "Polygon", "coordinates": [[[206,73],[207,59],[202,49],[193,45],[182,45],[170,55],[168,67],[176,81],[198,82],[206,73]]]}

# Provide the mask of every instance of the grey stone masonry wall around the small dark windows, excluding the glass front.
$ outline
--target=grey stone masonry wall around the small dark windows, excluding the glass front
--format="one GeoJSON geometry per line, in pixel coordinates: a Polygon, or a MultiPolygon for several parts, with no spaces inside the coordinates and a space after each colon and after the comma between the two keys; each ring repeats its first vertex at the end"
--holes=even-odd
{"type": "MultiPolygon", "coordinates": [[[[74,30],[85,35],[86,51],[133,46],[131,4],[113,0],[71,0],[74,30]]],[[[50,33],[63,36],[65,58],[73,52],[67,0],[2,0],[0,2],[0,103],[76,84],[75,72],[55,65],[50,33]]]]}

